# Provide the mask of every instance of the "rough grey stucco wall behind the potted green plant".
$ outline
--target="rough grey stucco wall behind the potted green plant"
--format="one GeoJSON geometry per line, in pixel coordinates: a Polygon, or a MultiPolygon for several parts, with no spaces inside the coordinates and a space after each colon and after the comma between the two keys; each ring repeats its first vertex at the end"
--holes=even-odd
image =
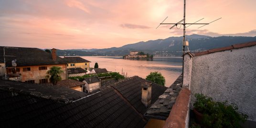
{"type": "Polygon", "coordinates": [[[235,103],[256,121],[256,46],[193,57],[191,91],[235,103]]]}

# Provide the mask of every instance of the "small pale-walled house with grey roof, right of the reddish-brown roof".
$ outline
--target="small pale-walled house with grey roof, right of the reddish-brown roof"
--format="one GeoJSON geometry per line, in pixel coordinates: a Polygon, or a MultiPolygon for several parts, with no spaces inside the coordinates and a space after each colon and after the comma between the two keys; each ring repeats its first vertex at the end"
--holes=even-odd
{"type": "Polygon", "coordinates": [[[85,78],[83,80],[83,83],[85,83],[86,92],[93,92],[97,89],[100,89],[101,80],[98,77],[94,76],[85,78]]]}

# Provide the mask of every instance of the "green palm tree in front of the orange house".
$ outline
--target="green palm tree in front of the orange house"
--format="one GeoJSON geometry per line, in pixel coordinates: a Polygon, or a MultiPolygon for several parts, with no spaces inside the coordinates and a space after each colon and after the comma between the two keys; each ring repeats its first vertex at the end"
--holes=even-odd
{"type": "Polygon", "coordinates": [[[63,70],[61,69],[61,67],[53,66],[52,68],[50,68],[50,70],[46,72],[46,78],[50,78],[51,83],[53,83],[53,85],[56,85],[57,82],[61,80],[60,74],[62,72],[63,70]]]}

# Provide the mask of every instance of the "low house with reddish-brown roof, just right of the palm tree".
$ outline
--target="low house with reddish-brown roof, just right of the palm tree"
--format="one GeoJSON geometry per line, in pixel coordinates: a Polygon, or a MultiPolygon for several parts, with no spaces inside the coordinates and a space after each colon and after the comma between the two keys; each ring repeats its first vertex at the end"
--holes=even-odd
{"type": "Polygon", "coordinates": [[[66,87],[69,89],[74,89],[77,91],[85,91],[85,83],[74,80],[74,79],[65,79],[57,82],[57,86],[66,87]]]}

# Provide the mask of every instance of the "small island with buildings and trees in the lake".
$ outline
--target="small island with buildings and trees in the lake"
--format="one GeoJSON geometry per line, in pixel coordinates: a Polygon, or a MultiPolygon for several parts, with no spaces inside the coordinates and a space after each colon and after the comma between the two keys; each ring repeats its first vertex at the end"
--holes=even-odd
{"type": "Polygon", "coordinates": [[[142,51],[130,51],[129,55],[123,56],[123,59],[147,59],[153,60],[153,55],[149,55],[149,53],[145,54],[142,51]]]}

